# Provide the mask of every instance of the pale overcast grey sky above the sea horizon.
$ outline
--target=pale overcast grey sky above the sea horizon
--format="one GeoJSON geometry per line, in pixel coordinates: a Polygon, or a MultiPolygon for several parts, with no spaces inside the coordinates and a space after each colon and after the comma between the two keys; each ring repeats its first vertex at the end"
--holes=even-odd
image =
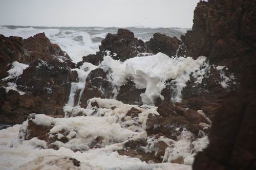
{"type": "Polygon", "coordinates": [[[191,28],[199,0],[0,0],[0,25],[191,28]]]}

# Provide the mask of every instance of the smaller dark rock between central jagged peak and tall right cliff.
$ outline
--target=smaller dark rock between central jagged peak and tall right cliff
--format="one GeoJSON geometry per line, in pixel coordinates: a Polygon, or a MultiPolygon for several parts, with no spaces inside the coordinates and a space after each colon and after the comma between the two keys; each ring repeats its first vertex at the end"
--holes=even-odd
{"type": "Polygon", "coordinates": [[[181,44],[182,41],[178,38],[171,38],[161,33],[155,33],[153,38],[146,42],[146,46],[150,48],[154,54],[161,52],[167,56],[176,56],[176,51],[181,44]]]}

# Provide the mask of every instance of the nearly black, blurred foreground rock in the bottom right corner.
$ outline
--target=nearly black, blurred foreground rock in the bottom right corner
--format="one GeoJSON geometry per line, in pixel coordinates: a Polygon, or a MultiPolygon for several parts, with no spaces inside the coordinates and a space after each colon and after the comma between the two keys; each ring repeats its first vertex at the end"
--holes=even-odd
{"type": "Polygon", "coordinates": [[[256,168],[256,60],[247,67],[241,89],[230,94],[214,117],[210,144],[196,156],[193,169],[256,168]]]}

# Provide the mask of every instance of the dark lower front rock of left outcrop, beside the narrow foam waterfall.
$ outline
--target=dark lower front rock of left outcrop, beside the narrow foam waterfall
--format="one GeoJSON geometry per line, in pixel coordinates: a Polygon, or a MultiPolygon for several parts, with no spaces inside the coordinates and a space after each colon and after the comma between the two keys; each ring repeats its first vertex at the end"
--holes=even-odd
{"type": "Polygon", "coordinates": [[[71,82],[76,81],[76,71],[71,71],[66,63],[33,62],[16,80],[17,89],[27,93],[19,95],[17,91],[9,90],[2,98],[0,122],[22,123],[30,113],[63,115],[71,82]]]}

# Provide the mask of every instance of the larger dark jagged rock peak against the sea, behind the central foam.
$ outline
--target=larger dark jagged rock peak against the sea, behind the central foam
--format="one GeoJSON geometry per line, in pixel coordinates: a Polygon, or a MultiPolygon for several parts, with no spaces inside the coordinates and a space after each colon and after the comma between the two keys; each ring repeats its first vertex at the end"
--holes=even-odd
{"type": "Polygon", "coordinates": [[[99,50],[104,55],[109,51],[113,59],[121,61],[133,58],[139,53],[151,53],[142,40],[135,38],[134,33],[126,29],[119,29],[117,34],[106,35],[99,50]]]}

